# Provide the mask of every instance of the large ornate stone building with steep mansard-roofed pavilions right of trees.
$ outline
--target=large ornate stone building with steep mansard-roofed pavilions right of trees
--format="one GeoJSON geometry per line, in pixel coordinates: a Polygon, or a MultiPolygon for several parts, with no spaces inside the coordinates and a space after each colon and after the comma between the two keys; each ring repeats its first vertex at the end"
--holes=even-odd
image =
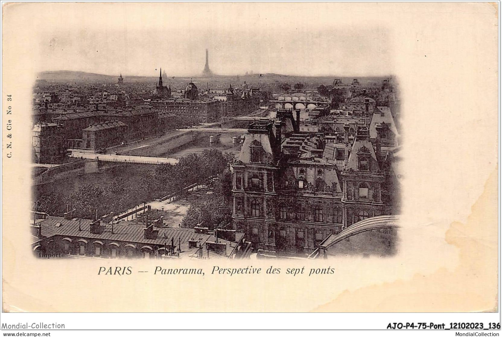
{"type": "Polygon", "coordinates": [[[380,143],[370,141],[366,126],[329,157],[322,133],[283,138],[284,123],[250,124],[231,164],[233,228],[255,249],[303,256],[331,234],[389,214],[380,143]]]}

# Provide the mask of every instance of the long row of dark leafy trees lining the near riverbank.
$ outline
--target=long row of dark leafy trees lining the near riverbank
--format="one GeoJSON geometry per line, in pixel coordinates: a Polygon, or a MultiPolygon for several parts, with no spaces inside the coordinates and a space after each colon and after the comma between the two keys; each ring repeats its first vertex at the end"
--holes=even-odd
{"type": "Polygon", "coordinates": [[[182,157],[179,163],[155,165],[152,170],[135,170],[130,167],[116,166],[108,174],[112,179],[99,179],[95,174],[92,182],[77,189],[61,189],[40,195],[33,209],[50,215],[63,216],[68,210],[75,209],[72,217],[92,219],[110,212],[121,212],[145,201],[162,198],[178,192],[186,186],[202,182],[209,176],[222,175],[227,170],[233,154],[222,153],[217,149],[205,149],[200,154],[182,157]]]}

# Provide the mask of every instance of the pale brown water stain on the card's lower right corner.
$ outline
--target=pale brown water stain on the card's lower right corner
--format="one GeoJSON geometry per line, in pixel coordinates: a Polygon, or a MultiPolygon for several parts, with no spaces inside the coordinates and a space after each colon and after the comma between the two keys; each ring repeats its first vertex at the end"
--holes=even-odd
{"type": "Polygon", "coordinates": [[[411,280],[345,290],[314,312],[496,312],[498,310],[498,165],[471,208],[453,222],[445,241],[459,248],[459,264],[411,280]]]}

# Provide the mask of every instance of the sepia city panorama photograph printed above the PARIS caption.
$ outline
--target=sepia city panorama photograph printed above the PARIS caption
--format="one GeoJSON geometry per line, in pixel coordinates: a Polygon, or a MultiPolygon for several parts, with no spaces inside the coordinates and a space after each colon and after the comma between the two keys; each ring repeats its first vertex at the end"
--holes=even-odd
{"type": "Polygon", "coordinates": [[[52,68],[33,86],[34,255],[397,254],[402,144],[390,52],[363,33],[328,47],[322,39],[306,35],[308,48],[295,52],[268,37],[206,35],[178,48],[159,36],[140,46],[149,58],[130,52],[127,62],[113,56],[130,47],[111,41],[95,68],[48,53],[52,68]]]}

